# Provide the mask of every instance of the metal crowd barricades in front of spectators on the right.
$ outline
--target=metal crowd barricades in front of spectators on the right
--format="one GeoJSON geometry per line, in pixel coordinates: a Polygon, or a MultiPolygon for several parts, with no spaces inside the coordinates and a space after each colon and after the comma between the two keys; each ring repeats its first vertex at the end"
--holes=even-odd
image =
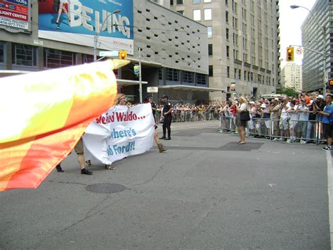
{"type": "MultiPolygon", "coordinates": [[[[220,132],[235,133],[235,118],[221,115],[220,132]]],[[[325,142],[322,123],[317,120],[280,120],[252,118],[247,122],[247,137],[273,141],[319,144],[325,142]]]]}

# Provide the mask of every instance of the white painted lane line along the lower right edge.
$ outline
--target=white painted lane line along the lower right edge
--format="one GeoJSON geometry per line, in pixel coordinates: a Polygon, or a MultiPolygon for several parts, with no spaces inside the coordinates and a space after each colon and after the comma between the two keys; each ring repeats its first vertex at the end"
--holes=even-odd
{"type": "Polygon", "coordinates": [[[332,156],[330,151],[326,151],[327,159],[327,191],[328,191],[328,209],[329,209],[329,235],[331,239],[331,249],[333,249],[333,168],[332,156]]]}

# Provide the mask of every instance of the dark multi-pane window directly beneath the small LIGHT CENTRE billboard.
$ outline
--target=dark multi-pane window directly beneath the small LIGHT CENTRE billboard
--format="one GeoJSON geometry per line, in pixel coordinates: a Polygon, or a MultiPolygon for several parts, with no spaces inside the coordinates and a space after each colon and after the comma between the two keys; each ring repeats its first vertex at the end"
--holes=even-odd
{"type": "Polygon", "coordinates": [[[37,48],[25,44],[13,44],[12,60],[15,65],[37,66],[37,48]]]}

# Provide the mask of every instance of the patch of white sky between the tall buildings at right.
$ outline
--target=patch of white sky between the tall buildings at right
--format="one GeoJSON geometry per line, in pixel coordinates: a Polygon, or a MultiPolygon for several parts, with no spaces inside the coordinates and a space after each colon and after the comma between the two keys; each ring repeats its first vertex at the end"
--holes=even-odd
{"type": "MultiPolygon", "coordinates": [[[[320,1],[320,0],[318,0],[320,1]]],[[[311,10],[315,0],[280,0],[280,45],[281,65],[286,64],[286,50],[289,45],[301,45],[301,25],[309,12],[304,8],[290,8],[291,5],[304,6],[311,10]]],[[[295,63],[301,65],[302,56],[295,53],[295,63]]]]}

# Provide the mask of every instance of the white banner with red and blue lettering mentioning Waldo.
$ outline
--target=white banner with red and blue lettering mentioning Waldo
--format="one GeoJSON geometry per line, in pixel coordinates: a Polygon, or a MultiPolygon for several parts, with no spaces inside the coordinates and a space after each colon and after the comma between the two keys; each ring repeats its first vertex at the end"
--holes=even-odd
{"type": "Polygon", "coordinates": [[[151,149],[154,125],[150,104],[115,106],[87,127],[84,146],[98,161],[111,164],[151,149]]]}

